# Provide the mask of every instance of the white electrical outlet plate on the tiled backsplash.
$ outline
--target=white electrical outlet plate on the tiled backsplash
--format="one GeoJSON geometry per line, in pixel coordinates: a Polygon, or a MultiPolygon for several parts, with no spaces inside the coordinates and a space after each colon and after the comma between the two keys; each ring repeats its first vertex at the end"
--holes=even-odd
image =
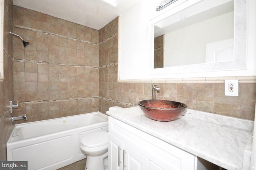
{"type": "Polygon", "coordinates": [[[225,96],[238,96],[238,80],[225,80],[225,96]]]}

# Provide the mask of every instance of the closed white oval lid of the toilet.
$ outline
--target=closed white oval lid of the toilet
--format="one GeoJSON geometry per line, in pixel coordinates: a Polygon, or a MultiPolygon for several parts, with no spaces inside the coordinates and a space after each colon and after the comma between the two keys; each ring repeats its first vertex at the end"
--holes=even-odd
{"type": "Polygon", "coordinates": [[[99,131],[87,134],[82,138],[81,144],[89,148],[108,144],[108,132],[99,131]]]}

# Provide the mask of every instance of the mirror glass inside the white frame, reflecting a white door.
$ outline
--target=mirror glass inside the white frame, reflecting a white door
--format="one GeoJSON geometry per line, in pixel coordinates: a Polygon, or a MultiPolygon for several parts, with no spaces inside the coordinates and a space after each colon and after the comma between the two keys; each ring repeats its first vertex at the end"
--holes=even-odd
{"type": "Polygon", "coordinates": [[[233,60],[234,0],[206,0],[154,24],[154,68],[233,60]]]}

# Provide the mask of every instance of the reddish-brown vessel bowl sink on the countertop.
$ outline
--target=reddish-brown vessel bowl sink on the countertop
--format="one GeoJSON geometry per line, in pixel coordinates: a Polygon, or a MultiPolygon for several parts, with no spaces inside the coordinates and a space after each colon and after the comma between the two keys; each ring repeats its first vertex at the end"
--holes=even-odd
{"type": "Polygon", "coordinates": [[[184,103],[170,100],[142,100],[138,105],[146,116],[161,122],[177,119],[188,108],[184,103]]]}

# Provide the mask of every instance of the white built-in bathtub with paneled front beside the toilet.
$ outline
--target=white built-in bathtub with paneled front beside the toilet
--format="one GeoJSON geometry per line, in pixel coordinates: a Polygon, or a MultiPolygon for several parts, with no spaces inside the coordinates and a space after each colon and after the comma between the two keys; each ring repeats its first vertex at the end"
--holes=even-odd
{"type": "Polygon", "coordinates": [[[28,161],[28,170],[56,170],[86,158],[82,137],[108,132],[108,116],[100,112],[15,125],[7,142],[8,161],[28,161]]]}

